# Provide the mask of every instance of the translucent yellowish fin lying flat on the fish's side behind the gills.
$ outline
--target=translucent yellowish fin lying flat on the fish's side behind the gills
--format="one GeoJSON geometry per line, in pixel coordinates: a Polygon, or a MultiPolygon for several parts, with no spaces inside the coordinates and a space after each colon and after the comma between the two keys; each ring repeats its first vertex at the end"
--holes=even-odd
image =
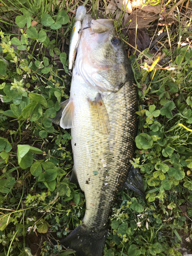
{"type": "Polygon", "coordinates": [[[99,131],[102,134],[109,134],[110,120],[101,95],[98,93],[94,101],[89,99],[89,104],[91,110],[92,124],[95,130],[99,131]]]}

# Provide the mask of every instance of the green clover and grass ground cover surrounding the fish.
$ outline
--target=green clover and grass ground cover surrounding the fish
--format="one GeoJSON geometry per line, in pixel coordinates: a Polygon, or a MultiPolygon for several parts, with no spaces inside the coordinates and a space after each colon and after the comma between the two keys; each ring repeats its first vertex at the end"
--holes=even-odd
{"type": "MultiPolygon", "coordinates": [[[[74,5],[61,3],[0,5],[0,256],[75,254],[52,244],[82,223],[85,211],[84,195],[69,183],[70,131],[49,119],[70,90],[65,51],[74,5]]],[[[126,39],[122,15],[116,26],[126,39]]],[[[104,256],[179,256],[182,240],[192,251],[192,36],[186,26],[178,23],[177,36],[170,36],[172,52],[164,42],[165,64],[157,66],[148,49],[130,57],[139,94],[132,164],[140,167],[146,200],[119,191],[104,256]]]]}

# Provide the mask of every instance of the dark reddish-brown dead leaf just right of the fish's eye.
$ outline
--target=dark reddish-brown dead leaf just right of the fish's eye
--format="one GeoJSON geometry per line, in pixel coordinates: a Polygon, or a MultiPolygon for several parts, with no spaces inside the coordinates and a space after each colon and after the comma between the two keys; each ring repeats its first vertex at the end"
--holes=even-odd
{"type": "Polygon", "coordinates": [[[142,52],[146,48],[150,46],[151,40],[150,36],[146,34],[143,30],[138,29],[137,31],[134,30],[129,30],[129,43],[130,45],[136,47],[137,49],[142,52]],[[136,43],[135,43],[135,38],[136,38],[136,43]]]}

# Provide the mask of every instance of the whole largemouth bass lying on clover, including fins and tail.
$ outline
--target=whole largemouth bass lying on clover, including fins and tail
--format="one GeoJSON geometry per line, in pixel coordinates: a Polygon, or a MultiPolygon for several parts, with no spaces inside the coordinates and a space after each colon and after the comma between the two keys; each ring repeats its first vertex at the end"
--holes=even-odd
{"type": "Polygon", "coordinates": [[[82,27],[88,23],[79,41],[70,98],[53,122],[71,128],[70,181],[79,184],[86,198],[83,224],[60,244],[78,256],[101,256],[118,190],[125,184],[143,196],[144,188],[130,163],[138,109],[131,64],[112,19],[86,14],[82,27]]]}

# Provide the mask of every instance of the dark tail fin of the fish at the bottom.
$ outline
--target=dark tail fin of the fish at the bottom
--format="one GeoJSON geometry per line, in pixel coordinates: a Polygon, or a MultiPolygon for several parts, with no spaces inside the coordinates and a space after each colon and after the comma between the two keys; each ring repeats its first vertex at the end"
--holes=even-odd
{"type": "Polygon", "coordinates": [[[100,233],[90,230],[86,225],[79,225],[69,236],[60,241],[66,248],[76,251],[77,256],[101,256],[108,228],[100,233]]]}

